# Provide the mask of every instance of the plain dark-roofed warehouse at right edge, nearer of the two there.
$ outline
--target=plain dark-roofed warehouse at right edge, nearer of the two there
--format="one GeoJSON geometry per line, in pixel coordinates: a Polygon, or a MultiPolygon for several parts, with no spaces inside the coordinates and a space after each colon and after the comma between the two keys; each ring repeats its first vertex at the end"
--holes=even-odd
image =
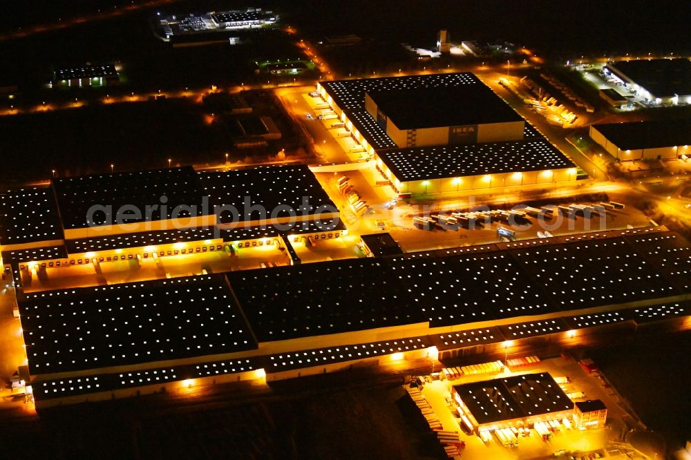
{"type": "Polygon", "coordinates": [[[691,155],[691,119],[594,124],[590,137],[617,160],[675,160],[691,155]]]}

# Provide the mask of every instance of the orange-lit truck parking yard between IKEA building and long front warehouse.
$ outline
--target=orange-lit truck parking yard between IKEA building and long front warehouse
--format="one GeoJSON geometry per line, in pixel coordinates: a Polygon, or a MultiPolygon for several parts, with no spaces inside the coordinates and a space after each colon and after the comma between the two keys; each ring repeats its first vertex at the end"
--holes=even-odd
{"type": "MultiPolygon", "coordinates": [[[[582,233],[585,231],[600,231],[625,229],[631,227],[646,227],[650,225],[645,214],[634,207],[624,209],[611,209],[604,213],[594,213],[590,218],[583,213],[569,213],[564,215],[557,211],[553,216],[536,218],[528,215],[523,220],[512,222],[501,222],[491,220],[487,222],[483,218],[478,218],[473,227],[466,225],[432,225],[430,229],[424,229],[416,225],[414,218],[421,215],[448,215],[451,212],[465,212],[471,209],[480,209],[479,204],[473,201],[473,197],[462,198],[459,200],[439,200],[435,202],[410,202],[398,201],[394,206],[391,205],[395,193],[389,186],[377,185],[377,171],[372,168],[363,167],[352,171],[341,171],[339,173],[316,173],[323,188],[329,193],[332,201],[341,209],[341,215],[348,230],[352,235],[378,233],[387,231],[399,242],[399,245],[406,252],[426,251],[430,249],[446,249],[450,247],[480,245],[490,242],[500,241],[498,229],[508,228],[515,235],[511,239],[524,240],[539,238],[548,232],[553,236],[565,235],[569,233],[582,233]],[[366,202],[367,210],[364,213],[356,214],[350,209],[347,196],[339,191],[337,184],[339,178],[348,179],[348,184],[352,185],[351,191],[357,192],[360,200],[366,202]],[[513,224],[511,224],[513,223],[513,224]]],[[[549,207],[565,206],[571,204],[594,204],[594,202],[576,202],[568,196],[555,198],[548,194],[542,202],[531,201],[531,207],[540,207],[542,204],[549,204],[549,207]]],[[[505,195],[506,201],[502,200],[504,195],[500,195],[499,200],[488,202],[482,205],[482,209],[498,210],[520,209],[527,205],[522,204],[515,195],[505,195]],[[510,200],[509,200],[510,198],[510,200]]]]}

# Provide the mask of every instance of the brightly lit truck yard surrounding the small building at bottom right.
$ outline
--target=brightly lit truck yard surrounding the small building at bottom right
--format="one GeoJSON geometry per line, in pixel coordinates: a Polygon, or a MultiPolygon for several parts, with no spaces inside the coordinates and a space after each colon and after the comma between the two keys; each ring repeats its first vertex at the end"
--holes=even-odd
{"type": "MultiPolygon", "coordinates": [[[[632,449],[617,443],[618,430],[612,430],[618,426],[621,419],[627,417],[626,412],[618,404],[618,396],[612,388],[605,387],[604,383],[594,374],[587,374],[583,367],[575,361],[567,361],[562,358],[552,358],[541,361],[538,365],[520,372],[509,372],[504,368],[501,374],[493,375],[464,375],[453,380],[433,380],[429,378],[424,383],[422,395],[431,406],[433,413],[442,423],[444,431],[457,431],[460,440],[464,441],[465,448],[462,452],[464,458],[472,459],[533,459],[541,457],[560,457],[569,459],[591,458],[636,458],[626,457],[625,452],[632,449]],[[518,445],[504,447],[498,438],[492,436],[484,442],[475,434],[467,434],[460,428],[460,418],[455,412],[453,398],[451,397],[451,385],[484,381],[491,378],[502,378],[533,372],[549,372],[553,377],[568,376],[570,383],[564,384],[565,392],[584,392],[587,399],[600,399],[607,405],[607,428],[605,430],[580,431],[576,428],[568,428],[560,423],[560,430],[553,431],[549,441],[543,441],[542,437],[533,429],[526,430],[527,435],[520,434],[518,445]],[[616,443],[616,447],[610,445],[616,443]],[[598,457],[601,456],[601,457],[598,457]]],[[[641,457],[642,458],[642,457],[641,457]]]]}

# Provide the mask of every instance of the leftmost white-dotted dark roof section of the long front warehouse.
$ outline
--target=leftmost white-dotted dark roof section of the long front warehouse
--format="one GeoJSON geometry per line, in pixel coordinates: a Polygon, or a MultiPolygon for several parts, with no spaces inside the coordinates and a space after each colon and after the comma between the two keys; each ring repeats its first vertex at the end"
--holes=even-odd
{"type": "Polygon", "coordinates": [[[223,275],[37,292],[19,310],[34,375],[256,347],[223,275]]]}

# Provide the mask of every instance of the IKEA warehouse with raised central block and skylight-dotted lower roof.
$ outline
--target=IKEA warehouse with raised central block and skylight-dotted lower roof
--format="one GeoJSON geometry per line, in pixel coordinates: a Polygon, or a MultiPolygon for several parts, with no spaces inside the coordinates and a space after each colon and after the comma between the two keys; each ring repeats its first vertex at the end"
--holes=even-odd
{"type": "Polygon", "coordinates": [[[319,82],[398,193],[578,179],[576,166],[472,73],[319,82]]]}

